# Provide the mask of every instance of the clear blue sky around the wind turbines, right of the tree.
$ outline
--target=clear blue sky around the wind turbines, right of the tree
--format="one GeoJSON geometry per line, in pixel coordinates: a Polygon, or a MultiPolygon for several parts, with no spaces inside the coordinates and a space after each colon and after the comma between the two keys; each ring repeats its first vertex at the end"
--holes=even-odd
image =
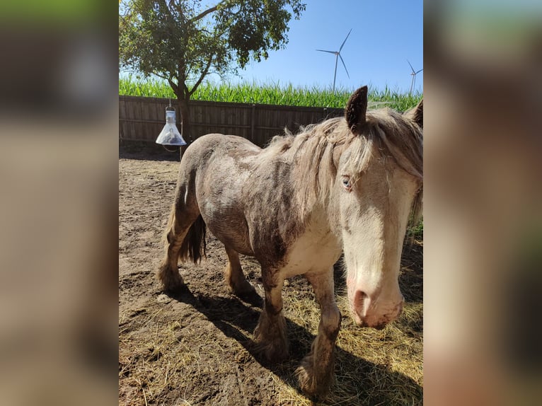
{"type": "MultiPolygon", "coordinates": [[[[299,21],[290,22],[289,43],[262,62],[251,62],[232,81],[292,83],[294,86],[333,86],[335,56],[348,31],[340,60],[337,88],[369,84],[408,92],[415,70],[423,68],[422,0],[306,0],[299,21]]],[[[416,76],[416,91],[423,91],[423,71],[416,76]]]]}

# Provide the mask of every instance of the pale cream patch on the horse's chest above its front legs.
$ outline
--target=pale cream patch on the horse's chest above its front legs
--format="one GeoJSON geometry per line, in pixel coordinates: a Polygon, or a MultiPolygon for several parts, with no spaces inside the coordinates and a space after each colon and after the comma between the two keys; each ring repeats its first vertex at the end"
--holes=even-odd
{"type": "Polygon", "coordinates": [[[289,248],[286,264],[282,268],[284,278],[309,272],[321,272],[337,262],[342,247],[333,233],[305,233],[289,248]]]}

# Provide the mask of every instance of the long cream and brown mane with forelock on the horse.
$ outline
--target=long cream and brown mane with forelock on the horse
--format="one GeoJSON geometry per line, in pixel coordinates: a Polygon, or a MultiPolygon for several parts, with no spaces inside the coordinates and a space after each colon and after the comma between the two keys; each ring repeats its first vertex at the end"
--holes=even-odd
{"type": "MultiPolygon", "coordinates": [[[[346,166],[355,182],[367,168],[374,151],[380,158],[391,156],[398,166],[410,175],[423,179],[422,129],[411,119],[412,112],[400,114],[384,108],[367,111],[367,125],[361,135],[352,134],[345,117],[325,120],[320,124],[301,127],[296,135],[275,136],[263,151],[263,161],[273,159],[295,163],[301,173],[294,174],[292,182],[299,190],[301,211],[306,212],[318,200],[324,201],[333,187],[339,158],[349,149],[346,166]],[[267,159],[266,159],[267,158],[267,159]]],[[[422,190],[415,197],[411,221],[417,221],[421,212],[422,190]]]]}

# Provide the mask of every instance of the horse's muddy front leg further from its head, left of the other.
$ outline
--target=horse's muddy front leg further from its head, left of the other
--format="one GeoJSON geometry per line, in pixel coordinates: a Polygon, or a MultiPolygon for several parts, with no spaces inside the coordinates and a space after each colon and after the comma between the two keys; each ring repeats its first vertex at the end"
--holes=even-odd
{"type": "Polygon", "coordinates": [[[265,300],[260,320],[254,330],[257,343],[255,351],[265,356],[268,361],[282,361],[288,356],[286,320],[282,314],[282,278],[277,278],[277,271],[262,269],[265,300]]]}

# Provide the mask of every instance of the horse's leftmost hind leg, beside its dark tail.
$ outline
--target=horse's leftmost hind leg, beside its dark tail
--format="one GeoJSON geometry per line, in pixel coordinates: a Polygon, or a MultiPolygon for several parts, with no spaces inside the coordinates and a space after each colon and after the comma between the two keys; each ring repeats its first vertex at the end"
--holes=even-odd
{"type": "Polygon", "coordinates": [[[188,234],[190,226],[200,214],[195,198],[190,200],[191,204],[185,202],[186,186],[180,185],[175,192],[175,203],[171,207],[168,226],[166,228],[165,256],[158,269],[158,279],[160,279],[163,290],[178,291],[185,285],[183,277],[178,270],[178,260],[180,248],[183,245],[185,237],[188,234]]]}

